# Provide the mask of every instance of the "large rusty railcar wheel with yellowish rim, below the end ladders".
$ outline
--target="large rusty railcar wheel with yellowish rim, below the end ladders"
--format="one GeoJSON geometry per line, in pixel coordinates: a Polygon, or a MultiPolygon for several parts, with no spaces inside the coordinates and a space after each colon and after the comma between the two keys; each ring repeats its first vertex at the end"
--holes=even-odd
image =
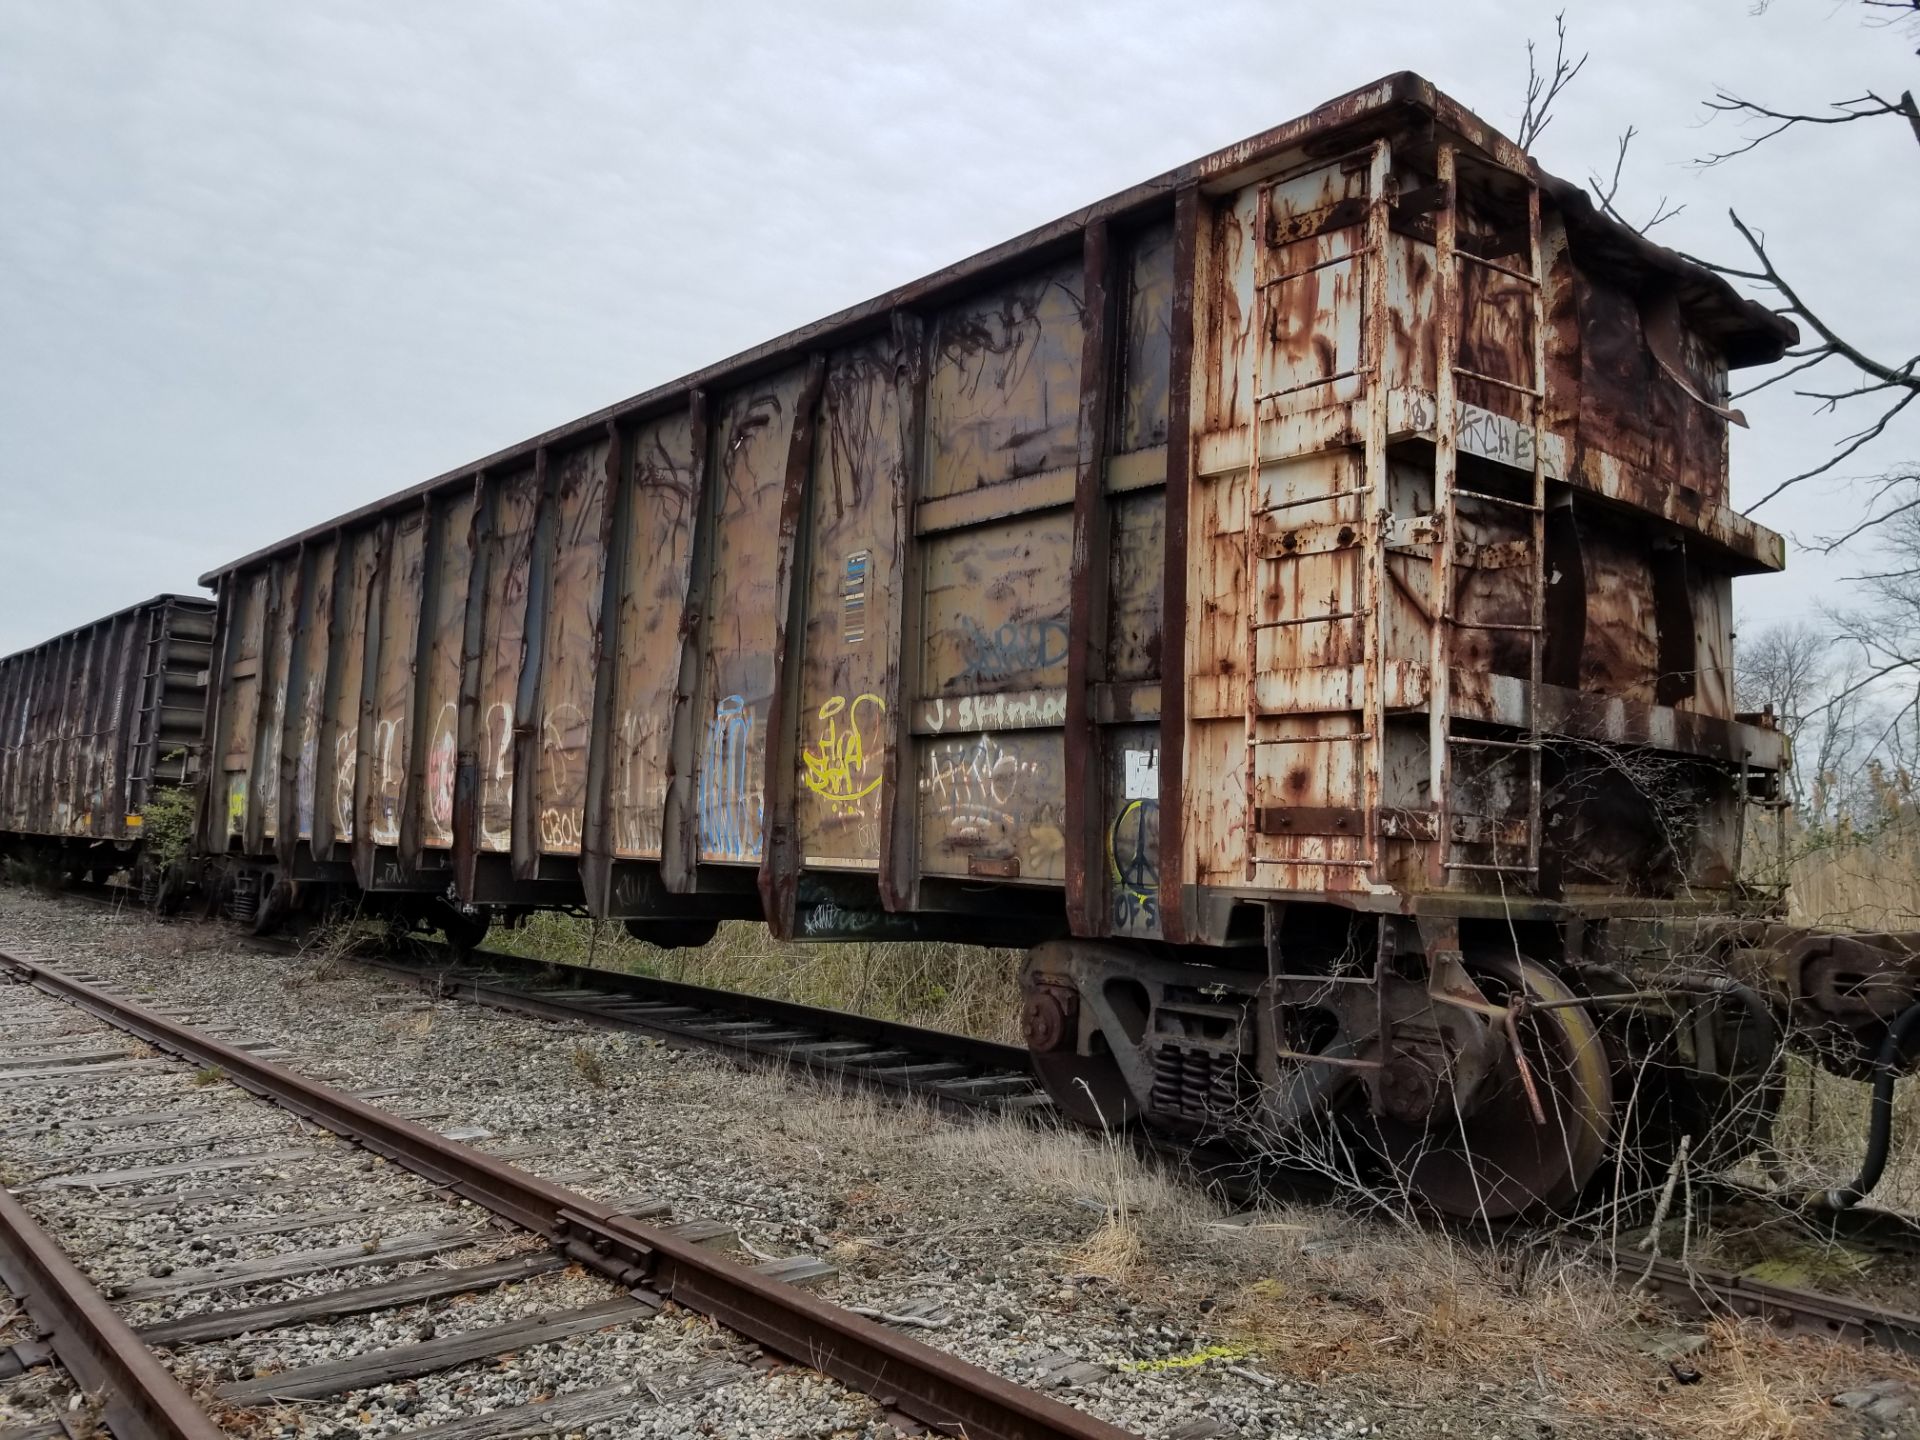
{"type": "Polygon", "coordinates": [[[1613,1075],[1599,1027],[1578,996],[1534,960],[1473,966],[1490,1000],[1530,1000],[1471,1114],[1428,1125],[1379,1121],[1394,1173],[1427,1204],[1467,1219],[1565,1210],[1607,1158],[1613,1075]],[[1530,1081],[1530,1085],[1528,1085],[1530,1081]],[[1540,1116],[1534,1112],[1540,1102],[1540,1116]]]}

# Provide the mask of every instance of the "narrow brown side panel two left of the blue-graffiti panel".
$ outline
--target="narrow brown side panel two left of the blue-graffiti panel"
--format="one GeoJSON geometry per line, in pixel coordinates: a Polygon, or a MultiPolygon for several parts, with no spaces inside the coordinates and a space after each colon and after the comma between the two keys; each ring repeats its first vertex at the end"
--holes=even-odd
{"type": "Polygon", "coordinates": [[[538,835],[545,854],[578,854],[586,824],[595,636],[605,564],[601,520],[607,503],[607,445],[586,445],[549,463],[559,467],[549,501],[555,507],[557,545],[540,676],[538,835]]]}

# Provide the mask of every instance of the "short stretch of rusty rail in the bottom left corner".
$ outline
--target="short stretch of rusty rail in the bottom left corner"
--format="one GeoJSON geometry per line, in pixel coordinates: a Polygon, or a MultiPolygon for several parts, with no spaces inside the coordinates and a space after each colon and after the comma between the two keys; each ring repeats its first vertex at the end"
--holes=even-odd
{"type": "Polygon", "coordinates": [[[225,1440],[60,1242],[0,1187],[0,1279],[73,1382],[102,1396],[115,1440],[225,1440]]]}

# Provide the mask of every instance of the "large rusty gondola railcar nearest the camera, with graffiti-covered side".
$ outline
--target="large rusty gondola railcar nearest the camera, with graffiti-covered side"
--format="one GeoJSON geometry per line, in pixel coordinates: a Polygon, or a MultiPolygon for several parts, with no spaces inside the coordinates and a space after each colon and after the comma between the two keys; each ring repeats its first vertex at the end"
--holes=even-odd
{"type": "Polygon", "coordinates": [[[202,841],[263,924],[1037,945],[1069,1110],[1565,1200],[1676,1033],[1592,975],[1751,900],[1791,340],[1396,75],[205,576],[202,841]]]}

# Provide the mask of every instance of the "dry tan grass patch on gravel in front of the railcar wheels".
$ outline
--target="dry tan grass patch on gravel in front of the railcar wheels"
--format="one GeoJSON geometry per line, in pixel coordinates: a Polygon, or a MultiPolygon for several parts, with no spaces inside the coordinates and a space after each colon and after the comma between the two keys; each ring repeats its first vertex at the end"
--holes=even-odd
{"type": "MultiPolygon", "coordinates": [[[[1198,1336],[1188,1359],[1357,1386],[1415,1413],[1421,1432],[1450,1417],[1452,1434],[1471,1434],[1498,1413],[1505,1432],[1532,1419],[1542,1434],[1816,1436],[1845,1419],[1830,1405],[1836,1392],[1920,1380],[1920,1365],[1885,1352],[1730,1321],[1692,1327],[1705,1346],[1682,1363],[1701,1379],[1680,1384],[1651,1352],[1674,1321],[1571,1248],[1490,1248],[1313,1206],[1229,1217],[1190,1181],[1100,1135],[956,1123],[862,1094],[795,1092],[774,1075],[745,1083],[780,1094],[758,1112],[776,1116],[803,1162],[879,1148],[900,1175],[964,1175],[968,1194],[1004,1210],[1010,1233],[1037,1210],[1056,1225],[1066,1215],[1077,1238],[1041,1263],[1165,1306],[1198,1336]]],[[[900,1202],[893,1192],[885,1204],[900,1202]]],[[[856,1235],[837,1256],[883,1263],[856,1235]]]]}

